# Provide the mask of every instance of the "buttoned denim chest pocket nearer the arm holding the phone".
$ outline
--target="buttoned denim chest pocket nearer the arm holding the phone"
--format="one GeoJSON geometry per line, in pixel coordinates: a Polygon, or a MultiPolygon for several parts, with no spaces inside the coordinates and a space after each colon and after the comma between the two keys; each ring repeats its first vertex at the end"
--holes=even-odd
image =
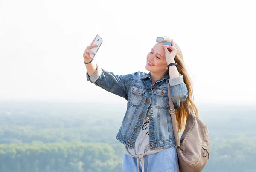
{"type": "Polygon", "coordinates": [[[141,86],[134,84],[131,86],[131,92],[129,96],[129,103],[131,103],[131,106],[141,106],[145,91],[146,89],[141,86]]]}

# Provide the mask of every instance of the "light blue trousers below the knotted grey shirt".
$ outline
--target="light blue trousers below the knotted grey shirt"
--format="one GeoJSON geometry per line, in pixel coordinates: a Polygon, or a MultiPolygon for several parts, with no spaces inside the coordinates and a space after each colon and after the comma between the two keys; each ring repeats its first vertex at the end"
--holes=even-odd
{"type": "MultiPolygon", "coordinates": [[[[144,166],[145,172],[179,172],[176,148],[170,147],[151,155],[145,155],[144,166]]],[[[137,158],[124,154],[122,172],[137,172],[137,158]]]]}

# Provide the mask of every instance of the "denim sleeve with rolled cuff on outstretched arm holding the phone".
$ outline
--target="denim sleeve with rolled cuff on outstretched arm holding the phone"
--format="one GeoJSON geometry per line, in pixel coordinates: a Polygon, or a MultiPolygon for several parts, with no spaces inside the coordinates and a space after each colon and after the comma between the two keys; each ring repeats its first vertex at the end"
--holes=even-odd
{"type": "Polygon", "coordinates": [[[128,75],[115,75],[113,72],[105,71],[97,64],[97,69],[93,75],[86,72],[87,81],[105,89],[115,95],[128,99],[128,88],[134,73],[128,75]]]}

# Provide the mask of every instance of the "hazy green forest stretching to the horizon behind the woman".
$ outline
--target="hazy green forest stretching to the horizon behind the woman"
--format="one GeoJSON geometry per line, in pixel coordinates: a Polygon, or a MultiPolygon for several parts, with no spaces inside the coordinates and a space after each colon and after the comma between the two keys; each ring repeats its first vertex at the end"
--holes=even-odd
{"type": "MultiPolygon", "coordinates": [[[[1,102],[0,172],[121,172],[125,104],[97,106],[1,102]]],[[[216,107],[198,107],[211,144],[203,172],[254,172],[256,109],[216,107]]]]}

